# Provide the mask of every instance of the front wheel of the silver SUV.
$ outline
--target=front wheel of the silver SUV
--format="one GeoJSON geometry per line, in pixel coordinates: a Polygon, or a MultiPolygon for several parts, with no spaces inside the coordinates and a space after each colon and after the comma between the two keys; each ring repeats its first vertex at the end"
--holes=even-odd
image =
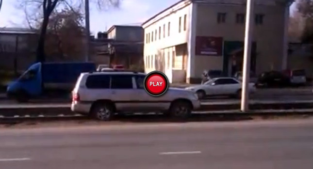
{"type": "Polygon", "coordinates": [[[176,101],[171,105],[170,114],[175,119],[185,120],[190,116],[191,108],[187,101],[176,101]]]}

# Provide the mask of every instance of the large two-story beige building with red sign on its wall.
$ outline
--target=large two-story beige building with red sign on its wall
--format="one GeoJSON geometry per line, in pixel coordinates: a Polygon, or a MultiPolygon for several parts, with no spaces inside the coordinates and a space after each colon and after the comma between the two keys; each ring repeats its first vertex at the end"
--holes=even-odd
{"type": "MultiPolygon", "coordinates": [[[[242,71],[247,0],[181,0],[142,24],[146,73],[198,83],[204,70],[242,71]]],[[[255,0],[251,71],[287,66],[292,0],[255,0]]]]}

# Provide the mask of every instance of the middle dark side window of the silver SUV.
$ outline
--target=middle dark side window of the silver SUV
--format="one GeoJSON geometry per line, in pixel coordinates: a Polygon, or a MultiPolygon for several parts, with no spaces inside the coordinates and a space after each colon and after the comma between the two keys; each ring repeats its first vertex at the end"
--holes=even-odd
{"type": "Polygon", "coordinates": [[[130,75],[113,75],[111,80],[111,89],[132,89],[132,76],[130,75]]]}

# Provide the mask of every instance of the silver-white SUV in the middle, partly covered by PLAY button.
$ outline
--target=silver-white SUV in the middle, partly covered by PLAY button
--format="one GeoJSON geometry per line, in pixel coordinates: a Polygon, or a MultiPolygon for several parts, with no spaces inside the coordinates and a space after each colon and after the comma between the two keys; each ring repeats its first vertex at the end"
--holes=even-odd
{"type": "Polygon", "coordinates": [[[144,89],[145,77],[121,71],[82,73],[72,91],[71,110],[108,121],[119,112],[163,112],[187,118],[200,108],[197,94],[188,90],[168,88],[162,96],[149,95],[144,89]]]}

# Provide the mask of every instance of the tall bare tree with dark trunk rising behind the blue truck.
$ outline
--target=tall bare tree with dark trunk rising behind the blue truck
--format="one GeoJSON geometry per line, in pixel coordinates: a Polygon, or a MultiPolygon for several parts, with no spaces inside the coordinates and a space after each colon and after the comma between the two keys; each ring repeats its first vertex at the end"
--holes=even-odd
{"type": "MultiPolygon", "coordinates": [[[[41,18],[42,22],[40,25],[39,39],[36,50],[36,60],[44,62],[46,60],[45,54],[45,40],[47,27],[49,24],[50,15],[54,10],[60,10],[65,6],[73,9],[73,5],[82,7],[84,0],[20,0],[20,7],[23,7],[26,16],[26,20],[32,28],[32,22],[29,16],[36,16],[41,18]],[[74,3],[75,1],[76,3],[74,3]]],[[[121,0],[92,0],[93,3],[97,4],[99,10],[107,10],[108,7],[118,7],[121,0]]],[[[82,9],[81,9],[82,10],[82,9]]],[[[87,35],[86,35],[87,36],[87,35]]]]}

